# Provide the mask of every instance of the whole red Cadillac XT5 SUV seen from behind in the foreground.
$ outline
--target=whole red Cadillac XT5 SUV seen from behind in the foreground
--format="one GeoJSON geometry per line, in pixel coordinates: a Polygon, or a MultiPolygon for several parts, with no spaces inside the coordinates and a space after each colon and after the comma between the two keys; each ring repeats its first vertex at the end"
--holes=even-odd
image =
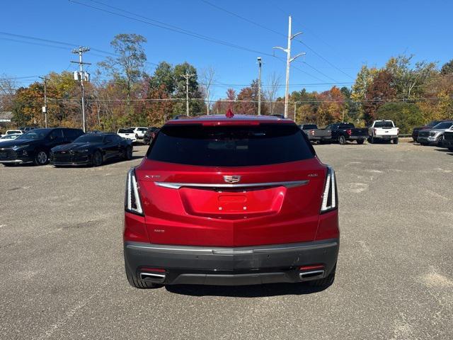
{"type": "Polygon", "coordinates": [[[333,282],[335,172],[292,120],[231,115],[169,121],[127,174],[132,286],[333,282]]]}

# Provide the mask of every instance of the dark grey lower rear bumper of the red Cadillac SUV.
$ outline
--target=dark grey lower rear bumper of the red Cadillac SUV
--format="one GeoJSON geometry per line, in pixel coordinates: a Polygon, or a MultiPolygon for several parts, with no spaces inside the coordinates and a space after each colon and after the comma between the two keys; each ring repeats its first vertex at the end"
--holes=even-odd
{"type": "Polygon", "coordinates": [[[338,248],[338,239],[235,248],[125,242],[124,254],[132,275],[164,269],[166,285],[254,285],[310,280],[299,276],[299,267],[314,264],[324,271],[314,279],[325,278],[336,265],[338,248]]]}

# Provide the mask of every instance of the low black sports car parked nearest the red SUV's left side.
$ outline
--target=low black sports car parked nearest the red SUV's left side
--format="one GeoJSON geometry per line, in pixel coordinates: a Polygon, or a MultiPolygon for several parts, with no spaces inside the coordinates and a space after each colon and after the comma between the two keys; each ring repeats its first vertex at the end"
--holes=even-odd
{"type": "Polygon", "coordinates": [[[90,133],[71,144],[59,145],[50,152],[54,166],[87,165],[100,166],[112,158],[132,159],[132,141],[115,133],[90,133]]]}

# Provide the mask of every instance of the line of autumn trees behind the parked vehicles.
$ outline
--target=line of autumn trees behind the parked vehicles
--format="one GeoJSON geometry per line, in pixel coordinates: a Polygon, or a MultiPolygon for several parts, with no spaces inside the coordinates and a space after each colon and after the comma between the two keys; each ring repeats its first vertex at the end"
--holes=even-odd
{"type": "MultiPolygon", "coordinates": [[[[98,63],[92,81],[85,83],[86,124],[89,130],[115,131],[125,126],[161,126],[185,115],[186,80],[190,114],[258,112],[258,81],[240,91],[227,88],[223,99],[212,100],[219,84],[215,69],[196,69],[188,62],[160,62],[152,74],[145,72],[147,56],[142,35],[116,35],[115,52],[98,63]]],[[[435,119],[453,119],[453,60],[439,68],[436,62],[413,62],[413,56],[391,57],[384,67],[362,66],[352,86],[332,86],[328,91],[292,91],[290,118],[297,123],[324,126],[339,121],[367,126],[375,119],[391,119],[402,133],[435,119]]],[[[47,114],[50,126],[81,126],[81,88],[71,72],[51,72],[47,81],[47,114]]],[[[282,79],[271,74],[261,90],[264,115],[282,114],[282,79]]],[[[0,77],[0,111],[13,113],[13,125],[43,126],[44,85],[18,87],[14,79],[0,77]]]]}

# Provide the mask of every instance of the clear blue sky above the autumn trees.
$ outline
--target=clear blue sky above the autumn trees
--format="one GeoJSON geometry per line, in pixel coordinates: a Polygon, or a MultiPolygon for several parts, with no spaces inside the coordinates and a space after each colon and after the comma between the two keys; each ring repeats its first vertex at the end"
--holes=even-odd
{"type": "MultiPolygon", "coordinates": [[[[349,86],[362,64],[380,67],[389,57],[401,53],[414,54],[415,61],[437,61],[440,65],[453,58],[453,1],[447,0],[207,0],[265,28],[202,0],[74,1],[115,11],[100,4],[104,2],[133,13],[116,11],[125,16],[146,17],[139,19],[160,21],[256,52],[200,40],[67,0],[4,1],[0,23],[0,74],[28,77],[76,67],[69,62],[76,60],[76,56],[71,55],[70,45],[4,33],[85,45],[107,52],[113,52],[110,40],[114,35],[137,33],[148,40],[145,45],[148,72],[153,71],[153,63],[163,60],[172,64],[187,61],[197,68],[212,66],[217,72],[214,97],[218,98],[224,96],[227,86],[224,84],[237,84],[231,87],[240,89],[239,85],[250,84],[257,77],[258,56],[263,57],[263,84],[268,84],[273,72],[280,74],[282,84],[285,82],[285,62],[282,61],[285,53],[274,52],[272,47],[286,45],[288,14],[293,18],[293,33],[301,30],[304,34],[298,39],[306,44],[294,41],[292,45],[293,54],[306,52],[306,56],[292,63],[292,90],[302,87],[297,84],[310,84],[306,89],[316,91],[330,88],[331,84],[326,83],[349,86]]],[[[92,50],[86,53],[85,60],[96,64],[104,57],[104,53],[92,50]]],[[[91,66],[89,71],[93,72],[94,68],[91,66]]],[[[38,78],[17,81],[19,85],[26,85],[35,79],[38,78]]],[[[280,94],[282,92],[280,89],[280,94]]]]}

